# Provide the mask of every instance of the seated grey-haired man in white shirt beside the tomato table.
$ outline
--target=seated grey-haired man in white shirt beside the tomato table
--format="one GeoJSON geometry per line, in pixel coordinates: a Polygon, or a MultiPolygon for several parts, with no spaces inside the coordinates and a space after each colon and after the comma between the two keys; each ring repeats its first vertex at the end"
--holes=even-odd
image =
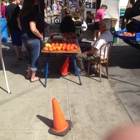
{"type": "MultiPolygon", "coordinates": [[[[111,20],[109,18],[105,18],[99,22],[99,27],[101,31],[101,36],[98,38],[98,40],[93,44],[92,48],[89,51],[79,53],[76,55],[76,62],[77,66],[80,69],[80,75],[85,76],[87,73],[85,71],[84,61],[88,60],[98,60],[100,56],[100,47],[106,43],[106,42],[113,42],[113,36],[110,32],[111,28],[111,20]]],[[[106,50],[106,54],[107,51],[106,50]]],[[[104,52],[102,52],[104,53],[104,52]]]]}

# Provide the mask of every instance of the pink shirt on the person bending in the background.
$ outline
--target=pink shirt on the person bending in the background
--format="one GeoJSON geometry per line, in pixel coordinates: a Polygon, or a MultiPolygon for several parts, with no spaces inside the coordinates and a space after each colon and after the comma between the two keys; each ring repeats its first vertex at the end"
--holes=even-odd
{"type": "Polygon", "coordinates": [[[102,8],[98,9],[94,18],[94,22],[99,22],[104,19],[104,10],[102,8]]]}

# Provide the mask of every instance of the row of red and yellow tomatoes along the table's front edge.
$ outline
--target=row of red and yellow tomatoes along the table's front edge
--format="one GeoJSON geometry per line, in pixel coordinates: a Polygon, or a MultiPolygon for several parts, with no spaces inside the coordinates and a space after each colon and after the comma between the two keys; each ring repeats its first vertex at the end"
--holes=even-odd
{"type": "Polygon", "coordinates": [[[63,43],[52,42],[46,43],[42,50],[47,52],[53,52],[53,51],[70,51],[77,48],[78,46],[72,42],[63,42],[63,43]]]}

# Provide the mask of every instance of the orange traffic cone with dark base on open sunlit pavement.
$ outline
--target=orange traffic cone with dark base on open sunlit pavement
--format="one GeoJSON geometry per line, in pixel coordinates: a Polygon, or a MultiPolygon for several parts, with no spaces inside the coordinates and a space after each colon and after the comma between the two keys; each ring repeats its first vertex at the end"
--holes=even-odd
{"type": "Polygon", "coordinates": [[[69,120],[65,120],[61,109],[55,98],[52,99],[53,107],[53,128],[49,129],[49,133],[58,136],[64,136],[71,129],[72,123],[69,120]]]}

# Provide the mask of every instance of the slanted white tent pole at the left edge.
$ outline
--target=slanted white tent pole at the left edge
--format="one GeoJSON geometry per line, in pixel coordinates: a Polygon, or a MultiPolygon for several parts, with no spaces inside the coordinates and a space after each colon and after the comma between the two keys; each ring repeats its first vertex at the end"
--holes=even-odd
{"type": "Polygon", "coordinates": [[[6,81],[7,92],[10,94],[11,92],[10,92],[10,89],[9,89],[9,84],[8,84],[8,80],[7,80],[7,74],[6,74],[6,71],[5,71],[5,65],[4,65],[3,56],[2,56],[1,42],[0,42],[0,59],[1,59],[1,64],[2,64],[2,68],[3,68],[5,81],[6,81]]]}

